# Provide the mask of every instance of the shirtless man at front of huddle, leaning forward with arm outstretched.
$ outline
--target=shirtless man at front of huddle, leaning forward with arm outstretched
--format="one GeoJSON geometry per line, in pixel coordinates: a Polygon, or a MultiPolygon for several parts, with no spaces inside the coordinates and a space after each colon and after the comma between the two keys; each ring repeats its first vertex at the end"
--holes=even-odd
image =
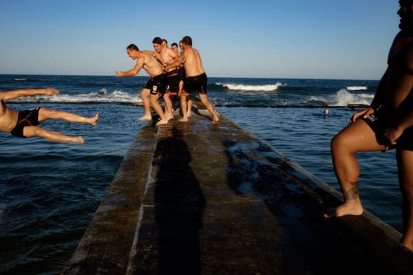
{"type": "Polygon", "coordinates": [[[149,103],[155,109],[156,113],[160,116],[160,120],[156,125],[167,124],[168,120],[165,118],[165,114],[162,111],[158,99],[162,94],[165,94],[165,83],[167,81],[167,76],[162,71],[156,58],[145,52],[142,52],[136,47],[136,45],[131,44],[126,48],[127,55],[136,60],[136,65],[127,72],[116,71],[116,76],[134,76],[139,73],[140,69],[145,69],[145,71],[151,76],[151,79],[147,82],[145,87],[140,92],[140,96],[143,101],[143,106],[145,107],[145,115],[139,120],[151,120],[151,112],[149,103]],[[148,96],[150,98],[148,99],[148,96]]]}

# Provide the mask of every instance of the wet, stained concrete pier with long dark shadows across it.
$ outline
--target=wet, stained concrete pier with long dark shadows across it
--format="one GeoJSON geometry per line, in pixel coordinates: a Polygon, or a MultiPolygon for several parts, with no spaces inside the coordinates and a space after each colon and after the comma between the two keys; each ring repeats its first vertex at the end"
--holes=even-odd
{"type": "MultiPolygon", "coordinates": [[[[401,234],[229,118],[148,122],[61,274],[413,274],[401,234]]],[[[282,151],[282,148],[280,148],[282,151]]]]}

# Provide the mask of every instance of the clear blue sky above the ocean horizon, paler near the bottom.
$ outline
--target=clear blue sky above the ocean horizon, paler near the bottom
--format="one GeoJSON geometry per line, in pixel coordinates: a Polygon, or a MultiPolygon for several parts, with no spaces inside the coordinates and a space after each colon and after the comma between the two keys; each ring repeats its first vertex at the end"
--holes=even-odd
{"type": "MultiPolygon", "coordinates": [[[[0,1],[0,74],[114,76],[126,47],[193,39],[208,76],[379,79],[397,0],[0,1]]],[[[140,76],[147,76],[140,72],[140,76]]]]}

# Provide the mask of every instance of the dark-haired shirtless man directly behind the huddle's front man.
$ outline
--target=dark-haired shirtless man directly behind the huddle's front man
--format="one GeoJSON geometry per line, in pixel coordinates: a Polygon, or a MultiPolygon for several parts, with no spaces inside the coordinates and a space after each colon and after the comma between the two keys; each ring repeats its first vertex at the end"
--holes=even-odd
{"type": "Polygon", "coordinates": [[[160,56],[160,62],[163,64],[165,74],[167,74],[167,93],[163,99],[165,102],[165,116],[167,120],[171,120],[173,118],[173,98],[179,92],[180,76],[177,68],[181,65],[181,62],[178,54],[167,47],[167,42],[165,41],[165,39],[155,37],[152,43],[156,53],[160,56]]]}

